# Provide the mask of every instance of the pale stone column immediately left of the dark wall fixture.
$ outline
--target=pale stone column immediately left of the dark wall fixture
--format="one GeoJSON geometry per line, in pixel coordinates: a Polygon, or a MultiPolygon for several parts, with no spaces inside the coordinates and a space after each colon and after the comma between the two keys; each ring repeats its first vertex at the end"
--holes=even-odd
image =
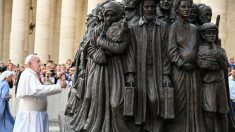
{"type": "Polygon", "coordinates": [[[13,0],[10,36],[10,59],[14,64],[24,62],[25,17],[27,0],[13,0]]]}

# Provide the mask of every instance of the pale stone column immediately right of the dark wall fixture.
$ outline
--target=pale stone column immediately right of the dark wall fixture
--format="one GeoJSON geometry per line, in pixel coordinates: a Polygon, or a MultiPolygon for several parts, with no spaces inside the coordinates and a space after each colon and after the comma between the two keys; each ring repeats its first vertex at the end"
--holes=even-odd
{"type": "Polygon", "coordinates": [[[50,52],[50,2],[50,0],[37,1],[34,53],[38,54],[43,63],[47,62],[50,52]]]}

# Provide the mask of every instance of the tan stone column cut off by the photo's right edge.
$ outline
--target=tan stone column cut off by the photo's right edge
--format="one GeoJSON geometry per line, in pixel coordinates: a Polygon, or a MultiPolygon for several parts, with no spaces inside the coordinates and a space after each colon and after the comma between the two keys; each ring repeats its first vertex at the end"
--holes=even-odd
{"type": "Polygon", "coordinates": [[[226,37],[226,47],[228,58],[235,57],[235,3],[234,0],[228,0],[227,9],[227,37],[226,37]]]}

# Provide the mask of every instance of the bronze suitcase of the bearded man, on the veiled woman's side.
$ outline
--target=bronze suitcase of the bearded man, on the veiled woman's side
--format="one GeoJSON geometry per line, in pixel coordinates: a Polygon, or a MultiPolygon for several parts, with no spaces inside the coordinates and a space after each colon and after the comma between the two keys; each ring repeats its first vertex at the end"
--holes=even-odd
{"type": "Polygon", "coordinates": [[[134,97],[135,97],[135,87],[132,85],[130,87],[125,87],[124,89],[124,116],[134,115],[134,97]]]}

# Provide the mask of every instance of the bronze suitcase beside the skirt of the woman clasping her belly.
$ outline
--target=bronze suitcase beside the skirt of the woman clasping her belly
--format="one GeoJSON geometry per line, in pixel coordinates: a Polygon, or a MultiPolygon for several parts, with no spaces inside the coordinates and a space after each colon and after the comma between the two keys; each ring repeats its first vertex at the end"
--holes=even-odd
{"type": "Polygon", "coordinates": [[[164,87],[161,90],[161,116],[164,119],[173,119],[174,113],[174,88],[164,87]]]}

